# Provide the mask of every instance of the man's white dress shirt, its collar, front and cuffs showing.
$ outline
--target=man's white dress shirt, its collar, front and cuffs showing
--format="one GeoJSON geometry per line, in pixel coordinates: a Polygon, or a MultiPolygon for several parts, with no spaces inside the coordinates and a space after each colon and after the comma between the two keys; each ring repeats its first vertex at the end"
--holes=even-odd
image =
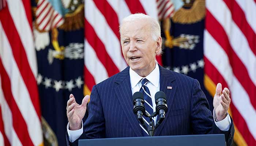
{"type": "MultiPolygon", "coordinates": [[[[141,77],[139,76],[139,74],[137,74],[134,70],[132,70],[131,68],[129,69],[129,74],[130,74],[130,82],[131,82],[131,89],[132,89],[132,95],[135,92],[140,91],[140,88],[142,86],[140,80],[142,78],[147,78],[147,80],[149,81],[147,83],[147,87],[150,91],[150,95],[152,98],[152,103],[153,103],[153,111],[155,112],[155,93],[157,93],[158,91],[160,91],[160,70],[159,70],[159,66],[156,63],[155,65],[155,69],[148,74],[148,76],[146,77],[141,77]]],[[[215,119],[215,111],[213,110],[213,116],[215,119]]],[[[157,117],[154,117],[154,120],[156,121],[157,117]]],[[[222,130],[222,131],[228,131],[230,124],[231,124],[231,119],[229,114],[227,114],[226,118],[216,122],[214,120],[216,126],[222,130]]],[[[68,131],[68,138],[70,142],[74,142],[76,139],[78,139],[82,134],[83,134],[83,121],[82,121],[82,128],[79,130],[69,130],[69,123],[67,125],[67,131],[68,131]]]]}

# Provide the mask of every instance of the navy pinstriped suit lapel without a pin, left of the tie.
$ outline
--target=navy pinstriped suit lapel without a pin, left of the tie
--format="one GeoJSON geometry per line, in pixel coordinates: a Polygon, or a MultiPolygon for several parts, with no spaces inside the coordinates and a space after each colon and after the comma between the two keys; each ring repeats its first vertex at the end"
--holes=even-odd
{"type": "Polygon", "coordinates": [[[121,107],[124,110],[124,113],[128,119],[128,122],[130,123],[137,137],[142,137],[143,135],[142,135],[142,130],[139,126],[139,120],[137,119],[137,116],[133,113],[132,90],[131,90],[131,82],[130,82],[130,75],[129,75],[129,67],[127,67],[122,72],[120,72],[114,82],[118,84],[116,88],[114,88],[114,91],[116,93],[117,99],[121,104],[121,107]]]}

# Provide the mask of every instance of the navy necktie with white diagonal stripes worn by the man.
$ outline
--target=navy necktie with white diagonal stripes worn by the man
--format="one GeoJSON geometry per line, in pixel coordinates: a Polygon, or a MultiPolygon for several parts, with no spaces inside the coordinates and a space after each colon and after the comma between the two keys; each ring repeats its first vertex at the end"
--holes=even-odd
{"type": "MultiPolygon", "coordinates": [[[[149,81],[146,78],[143,78],[141,80],[142,87],[140,88],[140,92],[143,93],[143,96],[144,96],[144,101],[145,101],[144,105],[145,105],[146,112],[148,112],[151,115],[153,114],[153,104],[152,104],[152,99],[151,99],[149,89],[146,86],[148,82],[149,81]]],[[[149,118],[145,117],[144,115],[143,115],[143,118],[148,127],[149,121],[150,121],[149,118]]],[[[142,129],[143,129],[142,130],[143,136],[148,136],[148,133],[145,132],[144,128],[142,129]]]]}

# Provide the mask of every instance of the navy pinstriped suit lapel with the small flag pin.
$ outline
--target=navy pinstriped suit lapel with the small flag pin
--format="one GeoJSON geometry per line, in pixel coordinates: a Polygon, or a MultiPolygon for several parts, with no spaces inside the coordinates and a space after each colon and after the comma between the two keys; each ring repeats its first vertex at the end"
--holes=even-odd
{"type": "Polygon", "coordinates": [[[172,106],[173,99],[177,90],[175,86],[175,81],[174,81],[175,77],[173,73],[170,72],[170,70],[167,70],[160,65],[159,65],[159,70],[160,70],[160,91],[163,91],[166,95],[168,110],[165,114],[166,115],[165,120],[163,120],[160,126],[155,129],[155,136],[160,135],[162,128],[166,123],[166,119],[168,118],[169,111],[172,106]],[[167,86],[172,87],[172,89],[167,89],[167,86]]]}

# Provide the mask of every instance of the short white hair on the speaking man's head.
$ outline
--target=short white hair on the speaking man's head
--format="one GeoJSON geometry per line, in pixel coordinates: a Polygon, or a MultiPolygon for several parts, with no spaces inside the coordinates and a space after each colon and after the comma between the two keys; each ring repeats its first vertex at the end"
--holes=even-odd
{"type": "MultiPolygon", "coordinates": [[[[158,23],[158,21],[148,15],[145,15],[143,13],[137,13],[137,14],[131,14],[127,17],[125,17],[120,26],[119,26],[119,32],[120,32],[120,35],[121,35],[121,28],[122,28],[122,25],[125,23],[125,22],[132,22],[132,21],[136,21],[136,20],[148,20],[149,24],[150,24],[150,33],[151,33],[151,36],[152,36],[152,39],[154,41],[157,41],[157,39],[159,37],[161,37],[161,28],[160,28],[160,25],[158,23]]],[[[159,51],[159,53],[157,55],[160,55],[162,54],[162,49],[161,51],[159,51]]]]}

